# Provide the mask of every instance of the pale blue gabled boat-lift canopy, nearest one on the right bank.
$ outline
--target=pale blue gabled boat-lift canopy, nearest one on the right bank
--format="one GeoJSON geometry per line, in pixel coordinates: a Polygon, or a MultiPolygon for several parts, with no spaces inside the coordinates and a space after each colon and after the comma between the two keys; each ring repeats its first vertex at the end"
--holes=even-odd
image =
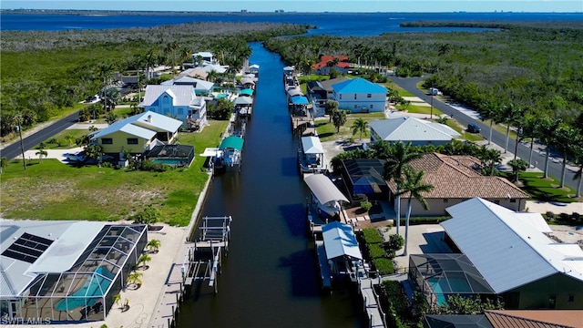
{"type": "Polygon", "coordinates": [[[322,237],[326,257],[329,261],[344,257],[352,260],[363,260],[363,254],[361,254],[358,241],[356,241],[356,236],[350,225],[338,221],[324,224],[322,237]]]}

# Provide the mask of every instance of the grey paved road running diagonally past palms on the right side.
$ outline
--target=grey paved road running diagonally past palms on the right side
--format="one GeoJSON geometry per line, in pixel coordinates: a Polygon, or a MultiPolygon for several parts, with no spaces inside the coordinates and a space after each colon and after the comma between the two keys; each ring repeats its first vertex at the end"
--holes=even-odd
{"type": "MultiPolygon", "coordinates": [[[[415,97],[420,97],[421,99],[423,99],[427,103],[430,103],[432,101],[431,96],[424,94],[424,92],[419,90],[416,86],[417,83],[419,83],[423,79],[422,77],[393,77],[393,76],[390,76],[389,78],[391,78],[394,81],[394,83],[396,85],[398,85],[399,87],[403,87],[405,90],[411,92],[415,97]]],[[[486,139],[489,137],[490,126],[484,124],[484,122],[482,122],[481,120],[476,119],[476,118],[472,118],[472,117],[466,115],[464,112],[461,112],[455,108],[452,108],[451,106],[445,104],[444,102],[438,100],[435,97],[433,99],[433,105],[434,105],[434,108],[441,110],[446,115],[453,116],[453,118],[455,118],[458,122],[460,122],[465,127],[470,123],[476,124],[477,126],[482,128],[482,133],[481,133],[482,136],[486,139]]],[[[506,134],[500,133],[500,132],[497,132],[496,130],[494,130],[492,132],[492,142],[494,142],[494,143],[496,143],[496,145],[504,148],[506,145],[506,134]]],[[[515,140],[510,139],[508,141],[508,152],[514,153],[515,148],[516,148],[515,140]]],[[[535,149],[537,149],[536,145],[535,145],[535,149]]],[[[528,160],[529,154],[530,154],[530,148],[519,143],[517,156],[521,159],[528,160]]],[[[560,179],[561,169],[562,169],[562,165],[561,165],[562,159],[559,158],[559,160],[557,160],[557,161],[558,162],[554,162],[551,159],[549,159],[549,161],[548,161],[548,174],[554,178],[560,179]]],[[[535,151],[533,153],[533,157],[532,157],[532,164],[537,166],[538,169],[544,170],[545,153],[544,152],[540,153],[540,152],[535,151]]],[[[573,189],[577,188],[577,180],[573,179],[574,176],[575,176],[575,172],[567,169],[565,184],[573,189]]]]}

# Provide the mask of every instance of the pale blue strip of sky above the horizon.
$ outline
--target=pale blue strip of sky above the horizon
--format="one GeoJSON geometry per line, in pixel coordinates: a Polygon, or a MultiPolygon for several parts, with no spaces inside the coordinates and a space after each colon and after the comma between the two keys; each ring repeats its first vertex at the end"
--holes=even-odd
{"type": "Polygon", "coordinates": [[[583,12],[583,0],[0,0],[2,9],[216,12],[583,12]]]}

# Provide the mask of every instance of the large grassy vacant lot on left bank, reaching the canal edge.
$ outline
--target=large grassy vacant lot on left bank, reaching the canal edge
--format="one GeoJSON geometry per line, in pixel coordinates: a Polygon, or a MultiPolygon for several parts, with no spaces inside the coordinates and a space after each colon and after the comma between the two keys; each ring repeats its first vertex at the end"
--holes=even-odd
{"type": "MultiPolygon", "coordinates": [[[[198,154],[217,147],[228,121],[211,121],[200,133],[181,133],[181,144],[198,154]]],[[[164,222],[186,226],[209,175],[204,158],[189,169],[127,171],[88,165],[74,167],[56,159],[32,160],[26,171],[10,161],[2,174],[2,217],[37,220],[123,220],[153,204],[164,222]]]]}

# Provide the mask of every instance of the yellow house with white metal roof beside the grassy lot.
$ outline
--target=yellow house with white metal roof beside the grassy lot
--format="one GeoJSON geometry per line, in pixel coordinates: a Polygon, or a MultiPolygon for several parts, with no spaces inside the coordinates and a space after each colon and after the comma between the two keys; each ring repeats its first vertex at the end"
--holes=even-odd
{"type": "Polygon", "coordinates": [[[178,119],[147,111],[118,120],[94,132],[89,138],[106,154],[118,155],[122,151],[142,154],[155,146],[172,143],[181,125],[178,119]]]}

